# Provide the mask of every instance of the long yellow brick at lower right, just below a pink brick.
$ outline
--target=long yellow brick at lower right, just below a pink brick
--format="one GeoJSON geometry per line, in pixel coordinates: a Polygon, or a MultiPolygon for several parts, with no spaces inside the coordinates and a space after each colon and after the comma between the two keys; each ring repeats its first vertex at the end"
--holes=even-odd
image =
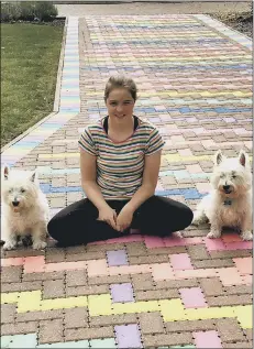
{"type": "Polygon", "coordinates": [[[209,319],[209,318],[222,318],[234,317],[234,308],[232,306],[210,307],[210,308],[197,308],[186,309],[187,320],[209,319]]]}

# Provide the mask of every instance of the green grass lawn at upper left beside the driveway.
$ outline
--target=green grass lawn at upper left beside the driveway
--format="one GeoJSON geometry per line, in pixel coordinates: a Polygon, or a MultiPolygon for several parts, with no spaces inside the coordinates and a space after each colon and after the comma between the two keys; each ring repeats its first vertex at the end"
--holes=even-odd
{"type": "Polygon", "coordinates": [[[53,111],[63,30],[1,24],[1,146],[53,111]]]}

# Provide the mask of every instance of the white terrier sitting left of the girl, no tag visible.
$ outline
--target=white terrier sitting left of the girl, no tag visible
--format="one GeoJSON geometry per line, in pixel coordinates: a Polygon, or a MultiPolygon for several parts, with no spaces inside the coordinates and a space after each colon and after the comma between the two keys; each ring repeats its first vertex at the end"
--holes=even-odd
{"type": "Polygon", "coordinates": [[[30,235],[33,249],[44,249],[49,208],[40,188],[36,172],[10,171],[5,165],[1,183],[3,249],[14,249],[19,237],[22,239],[30,235]]]}

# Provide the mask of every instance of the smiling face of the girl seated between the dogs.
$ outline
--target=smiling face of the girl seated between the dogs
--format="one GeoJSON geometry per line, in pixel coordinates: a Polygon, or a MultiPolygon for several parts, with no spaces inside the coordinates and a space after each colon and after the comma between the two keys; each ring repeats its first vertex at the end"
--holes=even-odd
{"type": "Polygon", "coordinates": [[[109,117],[114,120],[132,118],[135,101],[125,88],[115,88],[106,100],[109,117]]]}

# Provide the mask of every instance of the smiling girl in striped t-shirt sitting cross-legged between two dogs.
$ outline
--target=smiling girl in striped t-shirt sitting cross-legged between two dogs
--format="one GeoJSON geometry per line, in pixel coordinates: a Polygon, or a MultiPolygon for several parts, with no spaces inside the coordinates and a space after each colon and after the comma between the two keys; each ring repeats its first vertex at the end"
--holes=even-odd
{"type": "Polygon", "coordinates": [[[59,211],[48,223],[60,246],[129,235],[165,237],[191,223],[186,205],[155,196],[164,141],[150,122],[133,114],[135,83],[110,77],[104,89],[108,116],[79,139],[81,185],[87,198],[59,211]]]}

